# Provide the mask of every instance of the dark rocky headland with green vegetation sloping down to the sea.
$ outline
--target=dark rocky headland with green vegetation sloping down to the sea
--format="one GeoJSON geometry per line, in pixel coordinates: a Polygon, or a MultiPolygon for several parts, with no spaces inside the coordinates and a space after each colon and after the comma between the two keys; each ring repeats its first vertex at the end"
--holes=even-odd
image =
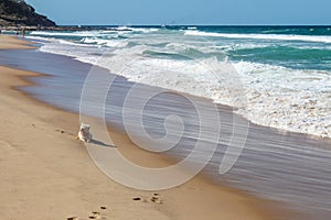
{"type": "Polygon", "coordinates": [[[0,0],[0,25],[2,28],[51,28],[55,22],[35,12],[24,0],[0,0]]]}

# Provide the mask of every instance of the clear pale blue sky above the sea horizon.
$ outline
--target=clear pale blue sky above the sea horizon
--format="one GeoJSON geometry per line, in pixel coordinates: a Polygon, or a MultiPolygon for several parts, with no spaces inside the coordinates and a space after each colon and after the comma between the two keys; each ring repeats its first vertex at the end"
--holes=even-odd
{"type": "Polygon", "coordinates": [[[25,0],[58,25],[331,24],[330,0],[25,0]]]}

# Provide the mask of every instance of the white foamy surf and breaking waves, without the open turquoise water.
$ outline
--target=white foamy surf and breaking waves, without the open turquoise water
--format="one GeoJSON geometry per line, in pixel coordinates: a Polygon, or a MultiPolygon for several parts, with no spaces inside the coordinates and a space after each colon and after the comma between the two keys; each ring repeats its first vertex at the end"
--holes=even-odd
{"type": "Polygon", "coordinates": [[[277,64],[228,61],[239,84],[237,89],[241,90],[239,94],[245,95],[244,106],[236,102],[236,97],[229,92],[231,89],[226,85],[228,76],[220,70],[224,63],[224,53],[227,51],[268,46],[268,43],[258,40],[277,40],[284,44],[289,44],[288,41],[320,42],[328,46],[331,36],[228,34],[197,30],[143,32],[143,30],[70,33],[74,36],[79,35],[79,41],[58,40],[54,38],[53,33],[43,32],[34,32],[33,37],[49,41],[41,46],[40,50],[43,52],[72,56],[85,63],[109,68],[111,73],[131,81],[205,97],[218,103],[237,107],[238,113],[257,124],[331,138],[329,70],[295,69],[277,64]],[[116,38],[117,35],[125,35],[126,38],[116,38]],[[220,40],[213,42],[201,36],[254,38],[257,42],[235,41],[220,44],[220,40]],[[105,56],[100,58],[104,53],[105,56]],[[209,69],[207,64],[209,58],[215,55],[218,59],[218,66],[215,67],[218,69],[216,76],[214,70],[209,69]]]}

